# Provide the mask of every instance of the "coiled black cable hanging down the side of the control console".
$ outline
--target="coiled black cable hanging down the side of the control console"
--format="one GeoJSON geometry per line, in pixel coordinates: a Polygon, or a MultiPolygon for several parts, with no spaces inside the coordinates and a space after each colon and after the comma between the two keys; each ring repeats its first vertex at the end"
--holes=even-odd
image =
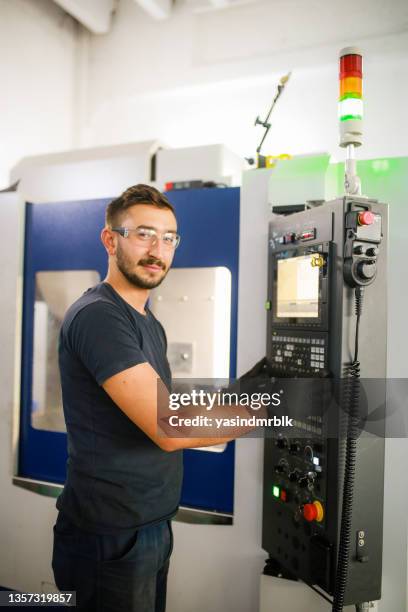
{"type": "Polygon", "coordinates": [[[341,512],[340,542],[337,558],[336,581],[332,612],[342,612],[347,586],[349,556],[351,548],[351,522],[356,472],[357,437],[360,405],[360,362],[358,361],[358,339],[360,318],[363,310],[364,288],[355,289],[356,331],[354,340],[354,359],[347,368],[344,388],[344,407],[348,412],[346,457],[344,466],[343,504],[341,512]]]}

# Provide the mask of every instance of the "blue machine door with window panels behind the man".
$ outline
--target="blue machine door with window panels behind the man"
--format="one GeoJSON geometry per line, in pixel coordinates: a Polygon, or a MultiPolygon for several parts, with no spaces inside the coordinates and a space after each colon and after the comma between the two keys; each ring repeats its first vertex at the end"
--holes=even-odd
{"type": "MultiPolygon", "coordinates": [[[[167,194],[182,235],[174,268],[225,266],[231,273],[230,376],[235,376],[239,190],[167,194]]],[[[27,204],[19,475],[63,483],[66,433],[57,367],[66,308],[106,276],[100,241],[109,200],[27,204]]],[[[233,512],[234,443],[222,453],[185,451],[181,505],[233,512]]]]}

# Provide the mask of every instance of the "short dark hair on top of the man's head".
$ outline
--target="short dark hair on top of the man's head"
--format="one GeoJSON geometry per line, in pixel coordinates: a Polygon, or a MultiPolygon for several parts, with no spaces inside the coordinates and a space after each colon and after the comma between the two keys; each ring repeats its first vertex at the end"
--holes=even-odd
{"type": "Polygon", "coordinates": [[[175,216],[174,208],[155,187],[150,185],[133,185],[124,191],[118,198],[115,198],[106,207],[105,222],[109,227],[116,227],[120,224],[122,214],[131,206],[137,204],[147,204],[157,208],[167,208],[175,216]]]}

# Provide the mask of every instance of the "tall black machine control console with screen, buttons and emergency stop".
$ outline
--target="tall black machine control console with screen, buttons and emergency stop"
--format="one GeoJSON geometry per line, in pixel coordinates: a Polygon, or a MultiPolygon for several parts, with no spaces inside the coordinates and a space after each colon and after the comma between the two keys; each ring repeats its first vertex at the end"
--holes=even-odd
{"type": "MultiPolygon", "coordinates": [[[[375,280],[367,283],[363,274],[361,283],[369,286],[359,360],[362,379],[385,379],[386,253],[387,206],[375,200],[344,197],[292,215],[274,215],[269,228],[267,356],[278,375],[344,377],[355,339],[352,287],[362,266],[374,265],[375,280]],[[375,229],[361,229],[356,222],[365,210],[374,214],[375,229]],[[279,274],[285,280],[280,289],[279,274]],[[301,282],[304,274],[310,276],[310,295],[305,293],[310,299],[297,303],[291,286],[295,275],[301,282]]],[[[379,388],[381,395],[383,386],[379,388]]],[[[385,405],[385,395],[375,399],[369,410],[385,405]]],[[[293,435],[266,438],[264,451],[266,573],[301,579],[329,595],[339,545],[345,439],[328,432],[341,431],[342,420],[341,410],[296,420],[293,435]],[[307,520],[305,507],[313,505],[319,508],[318,520],[307,520]]],[[[381,597],[383,491],[384,436],[363,432],[357,443],[345,605],[381,597]]]]}

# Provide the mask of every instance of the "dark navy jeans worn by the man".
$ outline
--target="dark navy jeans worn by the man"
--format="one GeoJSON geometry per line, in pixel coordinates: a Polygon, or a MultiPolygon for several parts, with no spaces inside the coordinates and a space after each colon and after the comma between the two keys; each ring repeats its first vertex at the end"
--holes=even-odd
{"type": "Polygon", "coordinates": [[[54,526],[52,567],[60,591],[76,591],[86,612],[164,612],[170,521],[133,533],[101,535],[73,525],[60,512],[54,526]]]}

